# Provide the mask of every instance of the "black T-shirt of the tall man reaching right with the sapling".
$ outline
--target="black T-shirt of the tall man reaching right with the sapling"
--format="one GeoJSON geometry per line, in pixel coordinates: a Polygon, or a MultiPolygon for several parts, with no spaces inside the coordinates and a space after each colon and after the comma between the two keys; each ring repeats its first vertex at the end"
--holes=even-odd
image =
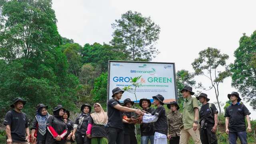
{"type": "MultiPolygon", "coordinates": [[[[117,104],[120,104],[119,101],[114,98],[108,101],[108,125],[113,128],[124,129],[122,121],[122,112],[114,108],[117,104]]],[[[121,105],[121,104],[120,104],[121,105]]]]}

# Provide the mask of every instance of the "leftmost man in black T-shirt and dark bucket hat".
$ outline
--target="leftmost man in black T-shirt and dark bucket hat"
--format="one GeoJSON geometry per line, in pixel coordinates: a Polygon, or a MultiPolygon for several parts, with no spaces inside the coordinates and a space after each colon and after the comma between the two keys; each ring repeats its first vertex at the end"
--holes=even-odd
{"type": "Polygon", "coordinates": [[[29,128],[28,118],[22,109],[26,101],[22,98],[14,98],[12,100],[12,110],[8,111],[4,118],[6,126],[6,144],[29,144],[29,128]]]}

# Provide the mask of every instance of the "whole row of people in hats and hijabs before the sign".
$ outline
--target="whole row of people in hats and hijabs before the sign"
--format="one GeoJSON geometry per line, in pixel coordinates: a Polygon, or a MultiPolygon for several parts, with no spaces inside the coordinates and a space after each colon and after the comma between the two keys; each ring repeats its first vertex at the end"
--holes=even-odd
{"type": "MultiPolygon", "coordinates": [[[[181,91],[184,98],[183,112],[179,105],[172,101],[167,104],[170,113],[164,109],[164,97],[153,96],[156,109],[151,107],[147,98],[140,99],[142,108],[134,109],[134,102],[127,98],[123,104],[119,102],[124,91],[120,88],[112,90],[112,99],[108,100],[108,112],[104,112],[99,103],[92,107],[89,104],[81,106],[81,113],[74,122],[70,120],[70,112],[62,105],[57,105],[53,115],[47,111],[48,106],[38,104],[36,116],[28,128],[28,118],[22,112],[26,101],[15,98],[11,104],[12,110],[6,113],[7,144],[137,144],[135,124],[140,124],[141,144],[187,144],[190,137],[195,144],[217,144],[216,130],[218,126],[218,110],[208,103],[207,94],[201,93],[192,97],[192,87],[185,86],[181,91]],[[202,103],[199,108],[198,101],[202,103]]],[[[242,144],[246,141],[246,124],[251,132],[250,112],[240,103],[237,92],[228,94],[232,104],[226,108],[226,133],[230,144],[236,144],[239,137],[242,144]]]]}

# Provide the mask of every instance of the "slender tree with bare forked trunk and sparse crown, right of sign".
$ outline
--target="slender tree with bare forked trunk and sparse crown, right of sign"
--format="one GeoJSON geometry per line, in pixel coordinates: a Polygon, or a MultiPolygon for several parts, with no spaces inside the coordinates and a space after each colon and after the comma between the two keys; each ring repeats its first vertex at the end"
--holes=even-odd
{"type": "Polygon", "coordinates": [[[226,65],[228,58],[227,54],[220,54],[220,50],[208,47],[206,50],[200,51],[199,57],[192,63],[195,75],[202,75],[210,80],[209,90],[214,88],[220,113],[219,86],[225,78],[230,76],[230,71],[226,65]],[[221,69],[225,70],[220,71],[221,69]]]}

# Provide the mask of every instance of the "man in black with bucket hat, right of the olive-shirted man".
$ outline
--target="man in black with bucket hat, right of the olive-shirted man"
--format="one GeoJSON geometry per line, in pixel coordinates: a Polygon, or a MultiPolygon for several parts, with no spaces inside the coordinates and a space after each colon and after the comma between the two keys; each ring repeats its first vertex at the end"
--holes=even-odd
{"type": "Polygon", "coordinates": [[[202,144],[217,144],[216,131],[218,126],[218,110],[216,106],[209,102],[207,94],[200,93],[196,97],[202,107],[199,109],[200,117],[200,139],[202,144]]]}

